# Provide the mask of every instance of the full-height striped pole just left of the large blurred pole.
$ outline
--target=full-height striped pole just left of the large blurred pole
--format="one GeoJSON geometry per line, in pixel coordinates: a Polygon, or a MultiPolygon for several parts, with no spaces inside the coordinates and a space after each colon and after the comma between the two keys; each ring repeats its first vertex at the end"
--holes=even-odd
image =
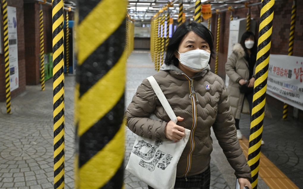
{"type": "Polygon", "coordinates": [[[54,188],[64,188],[63,20],[63,0],[53,0],[54,188]]]}

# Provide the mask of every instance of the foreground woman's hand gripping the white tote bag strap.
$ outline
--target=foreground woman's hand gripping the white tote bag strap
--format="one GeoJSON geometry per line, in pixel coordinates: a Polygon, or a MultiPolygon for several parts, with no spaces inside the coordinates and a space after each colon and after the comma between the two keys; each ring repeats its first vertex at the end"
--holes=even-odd
{"type": "MultiPolygon", "coordinates": [[[[184,118],[177,117],[178,122],[183,121],[184,118]]],[[[172,141],[179,141],[185,136],[185,129],[184,127],[181,127],[177,124],[175,124],[173,121],[169,121],[165,127],[165,136],[166,138],[171,139],[172,141]]]]}

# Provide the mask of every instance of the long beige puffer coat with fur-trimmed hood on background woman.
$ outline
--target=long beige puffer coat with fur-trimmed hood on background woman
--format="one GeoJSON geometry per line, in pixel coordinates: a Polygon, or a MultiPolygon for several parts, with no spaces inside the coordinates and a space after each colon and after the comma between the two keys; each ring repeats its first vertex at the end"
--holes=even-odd
{"type": "MultiPolygon", "coordinates": [[[[238,83],[240,79],[249,79],[248,62],[244,57],[245,51],[241,44],[237,43],[225,64],[225,72],[229,77],[227,92],[235,119],[240,119],[242,109],[248,109],[248,103],[243,103],[244,93],[240,93],[238,83]],[[242,105],[247,107],[242,108],[242,105]]],[[[255,67],[252,76],[255,76],[255,67]]]]}

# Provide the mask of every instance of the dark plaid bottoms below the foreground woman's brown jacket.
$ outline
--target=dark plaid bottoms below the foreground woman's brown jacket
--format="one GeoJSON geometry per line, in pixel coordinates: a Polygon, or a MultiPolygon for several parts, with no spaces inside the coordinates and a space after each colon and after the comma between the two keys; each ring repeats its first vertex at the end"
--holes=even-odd
{"type": "MultiPolygon", "coordinates": [[[[176,178],[174,189],[209,189],[210,187],[210,167],[203,173],[185,178],[176,178]]],[[[148,186],[148,189],[154,189],[148,186]]]]}

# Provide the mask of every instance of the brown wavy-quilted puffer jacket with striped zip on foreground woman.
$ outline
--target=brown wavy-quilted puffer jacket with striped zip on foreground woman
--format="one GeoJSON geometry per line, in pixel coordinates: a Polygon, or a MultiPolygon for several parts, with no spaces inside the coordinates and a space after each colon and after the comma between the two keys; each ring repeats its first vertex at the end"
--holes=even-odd
{"type": "MultiPolygon", "coordinates": [[[[177,124],[191,130],[191,136],[177,165],[177,177],[205,171],[212,152],[211,126],[228,162],[238,178],[250,178],[250,168],[240,148],[223,80],[208,66],[193,78],[173,65],[163,65],[154,75],[176,116],[177,124]]],[[[170,121],[147,79],[138,87],[125,117],[128,128],[145,138],[165,138],[170,121]],[[150,119],[155,114],[160,121],[150,119]]]]}

